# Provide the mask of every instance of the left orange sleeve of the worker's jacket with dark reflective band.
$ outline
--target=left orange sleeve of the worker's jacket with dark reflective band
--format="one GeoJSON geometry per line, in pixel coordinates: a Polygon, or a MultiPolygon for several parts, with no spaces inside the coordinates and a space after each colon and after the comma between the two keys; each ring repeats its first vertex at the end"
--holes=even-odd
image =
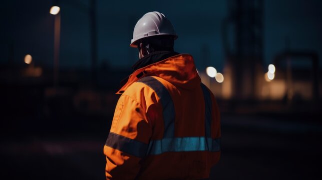
{"type": "Polygon", "coordinates": [[[107,179],[134,179],[140,170],[152,134],[142,99],[124,93],[118,100],[104,145],[107,179]]]}

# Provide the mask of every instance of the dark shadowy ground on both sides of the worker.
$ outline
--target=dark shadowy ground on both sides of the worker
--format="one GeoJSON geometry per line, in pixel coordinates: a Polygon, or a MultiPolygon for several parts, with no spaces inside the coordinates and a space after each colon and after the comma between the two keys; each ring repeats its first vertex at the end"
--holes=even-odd
{"type": "MultiPolygon", "coordinates": [[[[222,156],[212,179],[322,179],[319,118],[222,114],[222,156]]],[[[104,179],[108,120],[3,131],[0,179],[104,179]]]]}

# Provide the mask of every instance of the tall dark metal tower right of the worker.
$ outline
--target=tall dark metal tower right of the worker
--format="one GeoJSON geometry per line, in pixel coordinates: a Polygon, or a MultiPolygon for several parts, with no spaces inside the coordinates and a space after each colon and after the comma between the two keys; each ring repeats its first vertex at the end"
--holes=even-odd
{"type": "Polygon", "coordinates": [[[232,98],[256,98],[256,76],[263,63],[262,19],[263,0],[228,0],[222,33],[232,98]]]}

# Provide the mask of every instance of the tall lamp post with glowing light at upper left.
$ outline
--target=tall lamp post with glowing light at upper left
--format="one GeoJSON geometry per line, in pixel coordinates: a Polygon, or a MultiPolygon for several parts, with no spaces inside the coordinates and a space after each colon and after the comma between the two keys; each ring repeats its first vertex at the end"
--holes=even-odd
{"type": "Polygon", "coordinates": [[[58,86],[59,76],[59,47],[60,47],[60,36],[61,36],[61,14],[59,6],[52,6],[50,13],[55,15],[54,24],[54,86],[58,86]]]}

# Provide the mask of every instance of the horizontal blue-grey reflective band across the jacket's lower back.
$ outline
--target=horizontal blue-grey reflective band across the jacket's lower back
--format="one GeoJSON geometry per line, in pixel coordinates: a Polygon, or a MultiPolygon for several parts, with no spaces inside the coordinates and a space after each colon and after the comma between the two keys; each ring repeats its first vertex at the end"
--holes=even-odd
{"type": "Polygon", "coordinates": [[[164,152],[185,151],[220,151],[220,138],[211,137],[174,137],[151,140],[147,155],[157,155],[164,152]]]}

